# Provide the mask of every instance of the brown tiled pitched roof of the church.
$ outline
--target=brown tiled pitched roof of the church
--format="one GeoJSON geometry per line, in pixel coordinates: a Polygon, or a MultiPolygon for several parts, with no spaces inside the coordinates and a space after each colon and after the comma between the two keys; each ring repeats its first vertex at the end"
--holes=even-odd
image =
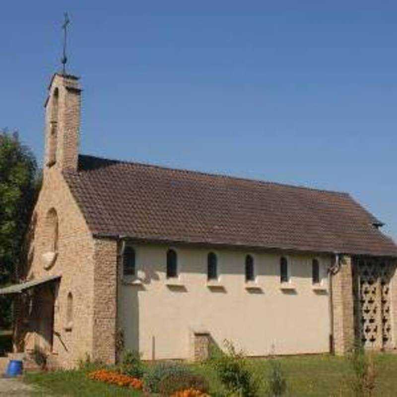
{"type": "Polygon", "coordinates": [[[85,155],[64,176],[98,235],[397,256],[346,193],[85,155]]]}

